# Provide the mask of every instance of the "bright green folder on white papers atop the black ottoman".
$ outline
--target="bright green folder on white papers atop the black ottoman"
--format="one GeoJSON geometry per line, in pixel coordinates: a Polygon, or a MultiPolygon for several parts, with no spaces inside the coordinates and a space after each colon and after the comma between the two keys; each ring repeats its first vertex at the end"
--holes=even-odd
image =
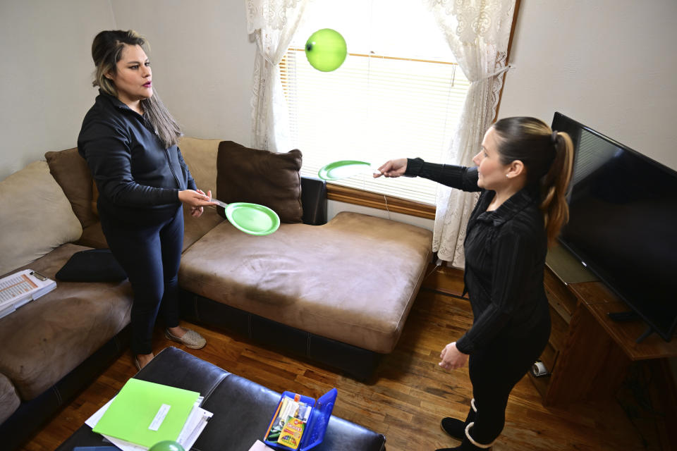
{"type": "Polygon", "coordinates": [[[202,400],[197,392],[132,378],[85,424],[123,451],[145,451],[163,440],[190,450],[212,417],[202,400]]]}

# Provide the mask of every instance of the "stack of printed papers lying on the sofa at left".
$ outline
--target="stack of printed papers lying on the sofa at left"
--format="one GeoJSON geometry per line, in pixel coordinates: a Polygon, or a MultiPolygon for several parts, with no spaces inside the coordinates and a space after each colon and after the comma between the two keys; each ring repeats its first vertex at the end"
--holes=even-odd
{"type": "Polygon", "coordinates": [[[48,279],[32,269],[24,269],[18,273],[0,279],[0,318],[13,313],[27,302],[46,295],[56,288],[56,282],[48,279]]]}

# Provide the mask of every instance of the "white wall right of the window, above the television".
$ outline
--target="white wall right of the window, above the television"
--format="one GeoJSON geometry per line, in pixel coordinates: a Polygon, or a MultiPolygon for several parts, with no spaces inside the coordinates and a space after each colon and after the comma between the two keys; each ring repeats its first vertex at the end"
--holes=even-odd
{"type": "Polygon", "coordinates": [[[677,1],[523,0],[499,117],[569,116],[677,169],[677,1]]]}

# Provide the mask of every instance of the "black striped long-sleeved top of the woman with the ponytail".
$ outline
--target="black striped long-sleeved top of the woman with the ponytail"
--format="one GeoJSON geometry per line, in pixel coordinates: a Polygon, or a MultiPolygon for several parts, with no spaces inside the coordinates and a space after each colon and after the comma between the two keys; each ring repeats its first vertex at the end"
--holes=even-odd
{"type": "Polygon", "coordinates": [[[547,235],[537,194],[525,187],[494,211],[494,191],[477,186],[477,168],[408,159],[405,175],[420,176],[463,191],[480,191],[463,242],[465,290],[472,327],[456,348],[472,354],[496,341],[527,339],[550,328],[543,287],[547,235]]]}

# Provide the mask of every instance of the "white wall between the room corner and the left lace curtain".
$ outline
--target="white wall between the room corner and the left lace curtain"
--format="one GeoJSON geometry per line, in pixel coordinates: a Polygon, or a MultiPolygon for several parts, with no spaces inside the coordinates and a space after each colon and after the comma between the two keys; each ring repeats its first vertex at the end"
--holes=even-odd
{"type": "Polygon", "coordinates": [[[150,42],[153,85],[185,135],[250,143],[252,73],[243,0],[111,0],[150,42]]]}

